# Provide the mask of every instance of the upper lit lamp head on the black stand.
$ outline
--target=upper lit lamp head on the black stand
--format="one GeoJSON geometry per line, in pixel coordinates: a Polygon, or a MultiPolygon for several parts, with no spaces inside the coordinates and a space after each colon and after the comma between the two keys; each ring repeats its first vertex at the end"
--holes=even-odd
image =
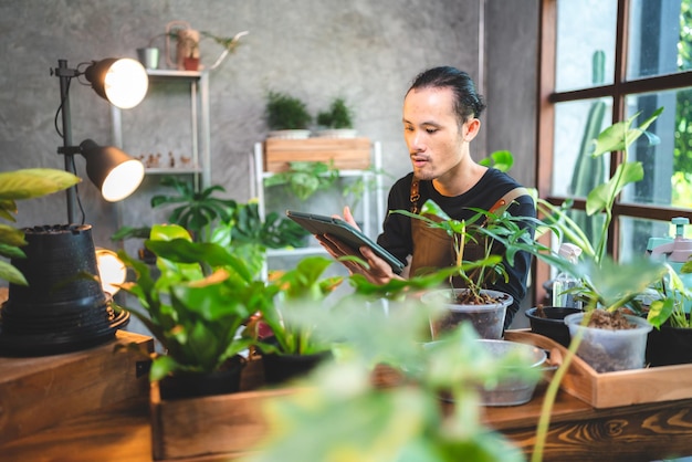
{"type": "Polygon", "coordinates": [[[107,57],[84,72],[94,91],[122,109],[135,107],[147,94],[149,77],[141,63],[129,57],[107,57]]]}

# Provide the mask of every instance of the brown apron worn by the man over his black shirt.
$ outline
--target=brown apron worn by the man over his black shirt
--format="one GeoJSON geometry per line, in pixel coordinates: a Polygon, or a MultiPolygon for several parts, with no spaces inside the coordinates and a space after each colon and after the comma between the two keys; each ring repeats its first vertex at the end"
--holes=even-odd
{"type": "MultiPolygon", "coordinates": [[[[419,180],[413,177],[410,196],[412,213],[419,212],[418,200],[420,195],[418,188],[419,180]]],[[[514,188],[500,198],[489,211],[493,213],[503,212],[514,199],[527,193],[528,191],[525,188],[514,188]]],[[[430,218],[437,219],[436,217],[430,218]]],[[[410,275],[457,264],[452,237],[443,229],[430,228],[422,220],[411,220],[411,239],[413,241],[413,252],[411,255],[410,275]]],[[[466,242],[464,245],[464,260],[475,261],[482,259],[484,256],[484,246],[482,244],[482,242],[466,242]]],[[[454,285],[457,286],[458,283],[455,282],[454,285]]]]}

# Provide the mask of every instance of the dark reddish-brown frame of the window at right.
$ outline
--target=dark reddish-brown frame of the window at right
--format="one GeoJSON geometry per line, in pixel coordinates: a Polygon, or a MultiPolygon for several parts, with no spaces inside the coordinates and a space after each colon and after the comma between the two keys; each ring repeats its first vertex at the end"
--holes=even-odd
{"type": "MultiPolygon", "coordinates": [[[[536,187],[538,196],[551,203],[563,203],[568,197],[551,193],[553,175],[553,148],[555,136],[555,104],[595,99],[600,97],[612,98],[612,120],[615,124],[627,118],[626,98],[632,94],[660,92],[692,87],[692,71],[679,72],[671,75],[654,75],[637,77],[627,81],[627,50],[629,28],[629,0],[618,0],[615,75],[612,84],[588,87],[584,90],[556,92],[556,43],[557,43],[557,2],[558,0],[541,0],[539,30],[538,30],[538,101],[536,124],[536,187]]],[[[610,176],[620,162],[622,153],[610,154],[610,176]]],[[[574,208],[585,210],[586,200],[570,198],[574,208]]],[[[619,253],[620,217],[642,218],[648,220],[670,221],[674,217],[686,217],[692,222],[692,210],[677,207],[648,206],[621,203],[616,200],[612,208],[612,221],[608,232],[607,252],[615,259],[619,253]]],[[[549,245],[548,238],[544,238],[549,245]]],[[[535,262],[534,300],[539,303],[545,298],[543,282],[551,279],[551,267],[541,261],[535,262]]]]}

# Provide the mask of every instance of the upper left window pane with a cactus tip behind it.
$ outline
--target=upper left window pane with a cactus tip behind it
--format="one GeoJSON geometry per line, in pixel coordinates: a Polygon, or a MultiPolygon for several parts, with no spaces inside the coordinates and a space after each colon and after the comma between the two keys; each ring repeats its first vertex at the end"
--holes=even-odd
{"type": "Polygon", "coordinates": [[[612,83],[617,7],[617,0],[557,3],[557,92],[612,83]]]}

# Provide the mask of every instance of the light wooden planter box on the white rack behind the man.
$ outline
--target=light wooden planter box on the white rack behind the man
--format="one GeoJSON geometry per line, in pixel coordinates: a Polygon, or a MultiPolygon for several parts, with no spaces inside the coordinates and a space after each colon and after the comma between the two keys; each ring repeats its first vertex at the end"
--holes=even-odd
{"type": "Polygon", "coordinates": [[[334,161],[339,170],[365,170],[370,166],[368,138],[268,138],[264,171],[285,171],[292,161],[334,161]]]}

